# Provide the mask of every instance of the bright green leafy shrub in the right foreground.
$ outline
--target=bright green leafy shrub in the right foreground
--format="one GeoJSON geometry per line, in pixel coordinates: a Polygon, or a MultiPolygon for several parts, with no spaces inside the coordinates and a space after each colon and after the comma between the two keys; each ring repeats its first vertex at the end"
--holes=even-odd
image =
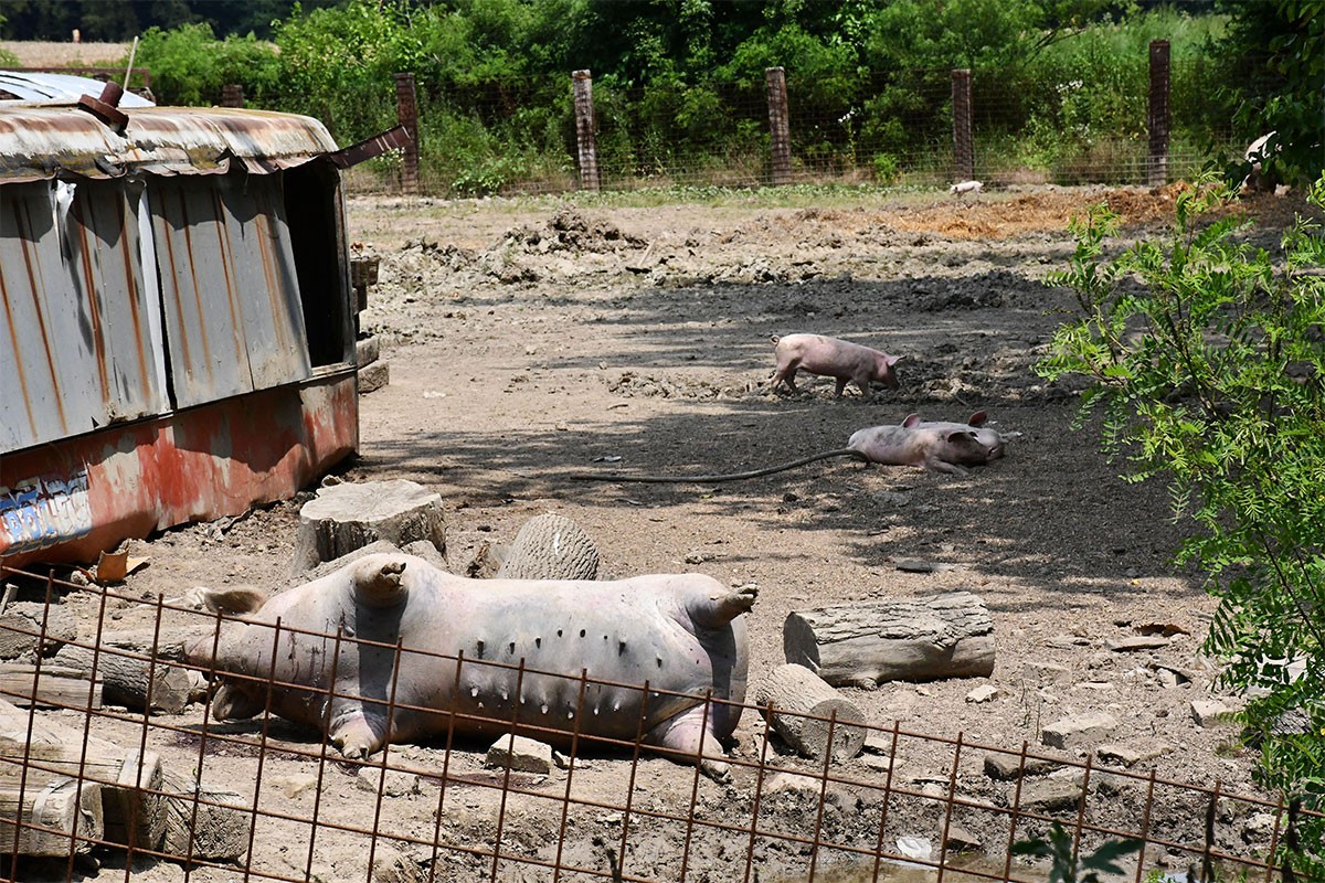
{"type": "MultiPolygon", "coordinates": [[[[1167,481],[1190,526],[1177,560],[1219,598],[1206,647],[1247,698],[1263,782],[1325,809],[1325,237],[1300,218],[1257,248],[1214,185],[1178,197],[1171,236],[1114,258],[1106,209],[1073,230],[1053,282],[1075,316],[1039,371],[1088,377],[1104,449],[1130,481],[1167,481]]],[[[1318,819],[1302,827],[1318,851],[1318,819]]],[[[1325,879],[1320,858],[1297,857],[1317,863],[1306,879],[1325,879]]]]}

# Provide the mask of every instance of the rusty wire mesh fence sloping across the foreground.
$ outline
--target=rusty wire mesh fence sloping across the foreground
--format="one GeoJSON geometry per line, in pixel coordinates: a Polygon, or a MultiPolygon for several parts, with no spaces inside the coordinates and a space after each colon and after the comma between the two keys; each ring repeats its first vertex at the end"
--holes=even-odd
{"type": "MultiPolygon", "coordinates": [[[[0,647],[11,659],[0,690],[3,879],[1031,882],[1044,879],[1044,867],[1011,847],[1043,838],[1053,822],[1083,853],[1142,841],[1128,868],[1138,883],[1283,875],[1271,857],[1291,813],[1283,802],[1223,793],[1218,782],[1165,781],[896,724],[841,724],[861,731],[871,753],[860,757],[800,757],[767,729],[730,756],[668,756],[639,737],[651,725],[649,706],[702,706],[704,715],[770,710],[583,671],[534,671],[522,659],[374,643],[346,627],[297,633],[305,649],[322,649],[333,683],[338,661],[413,655],[453,670],[456,695],[494,671],[510,695],[486,710],[413,706],[398,665],[375,683],[331,690],[305,679],[232,679],[257,698],[256,714],[221,721],[223,700],[205,699],[215,673],[196,662],[216,646],[221,614],[4,576],[23,590],[0,613],[0,647]],[[148,627],[117,627],[117,614],[131,606],[150,610],[148,627]],[[523,702],[556,679],[558,695],[574,698],[568,704],[523,702]],[[588,723],[603,720],[599,703],[612,691],[639,692],[639,715],[607,728],[588,723]],[[302,704],[331,723],[360,699],[383,719],[431,720],[431,735],[351,759],[315,728],[265,711],[302,704]],[[523,743],[507,735],[513,723],[558,753],[515,751],[523,743]],[[934,748],[946,774],[894,774],[912,752],[934,748]],[[704,774],[701,760],[729,765],[727,781],[704,774]],[[1173,876],[1155,878],[1161,864],[1173,876]]],[[[266,627],[273,649],[281,646],[280,625],[266,627]]],[[[411,700],[428,694],[417,684],[408,692],[411,700]]],[[[244,704],[225,702],[232,712],[244,704]]],[[[825,748],[839,744],[836,718],[803,718],[820,727],[825,748]]]]}

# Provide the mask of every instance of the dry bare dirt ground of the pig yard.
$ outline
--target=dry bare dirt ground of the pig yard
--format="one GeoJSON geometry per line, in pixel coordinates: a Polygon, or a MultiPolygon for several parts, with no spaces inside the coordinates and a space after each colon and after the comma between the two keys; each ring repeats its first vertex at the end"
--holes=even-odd
{"type": "MultiPolygon", "coordinates": [[[[1181,532],[1165,490],[1120,481],[1121,466],[1097,450],[1097,426],[1072,429],[1079,389],[1048,385],[1032,371],[1069,304],[1067,293],[1044,282],[1072,252],[1067,218],[1101,199],[1128,221],[1118,245],[1171,216],[1171,193],[1145,191],[1039,189],[967,201],[930,195],[778,209],[351,199],[356,248],[382,258],[362,320],[383,344],[390,385],[360,398],[360,454],[341,477],[411,479],[437,491],[448,511],[445,555],[456,572],[484,541],[509,543],[529,518],[558,512],[596,540],[600,576],[698,571],[731,586],[757,585],[751,683],[783,662],[783,621],[794,610],[974,592],[994,621],[994,675],[847,690],[872,724],[896,721],[905,731],[1011,749],[1024,741],[1035,751],[1043,725],[1105,712],[1116,724],[1100,741],[1134,752],[1132,772],[1255,793],[1252,757],[1234,748],[1234,728],[1202,727],[1192,716],[1195,700],[1232,707],[1236,699],[1211,692],[1215,670],[1199,643],[1214,605],[1194,575],[1169,564],[1181,532]],[[901,388],[872,402],[855,391],[835,400],[831,381],[802,375],[799,395],[768,393],[770,335],[794,331],[901,355],[901,388]],[[969,475],[828,461],[727,485],[567,478],[594,469],[741,471],[840,447],[856,429],[912,412],[963,420],[979,409],[1004,433],[1007,455],[969,475]],[[620,459],[599,462],[608,457],[620,459]],[[926,572],[916,572],[916,563],[926,572]],[[1170,634],[1165,646],[1112,649],[1151,626],[1170,634]],[[969,700],[982,684],[998,694],[969,700]]],[[[1267,242],[1276,241],[1273,225],[1291,216],[1289,207],[1253,208],[1272,222],[1267,242]]],[[[131,553],[150,565],[125,589],[150,598],[197,584],[289,585],[297,514],[294,500],[135,541],[131,553]]],[[[95,613],[90,596],[69,602],[95,613]]],[[[147,621],[150,612],[118,601],[110,616],[122,627],[147,621]]],[[[193,708],[176,723],[196,725],[200,716],[193,708]]],[[[229,727],[260,732],[257,723],[229,727]]],[[[135,732],[125,724],[123,737],[135,732]]],[[[761,733],[759,716],[746,714],[734,755],[757,760],[761,733]]],[[[196,739],[155,729],[150,736],[163,753],[196,763],[196,739]]],[[[280,721],[270,724],[269,739],[305,751],[318,745],[315,733],[280,721]]],[[[392,748],[392,764],[413,765],[425,777],[421,793],[382,801],[380,830],[431,839],[440,823],[444,839],[490,849],[496,792],[453,789],[440,822],[435,818],[437,786],[427,772],[440,770],[443,748],[392,748]]],[[[452,772],[481,773],[481,749],[462,747],[452,772]]],[[[1067,756],[1084,761],[1089,752],[1067,756]]],[[[1007,805],[1014,786],[984,774],[984,753],[965,751],[957,793],[1007,805]]],[[[835,765],[833,773],[882,782],[885,773],[868,757],[835,765]]],[[[778,763],[815,769],[790,755],[778,763]]],[[[219,752],[207,757],[204,778],[244,792],[252,789],[254,764],[252,752],[219,752]]],[[[299,790],[298,782],[307,784],[315,767],[266,759],[264,812],[309,818],[315,788],[299,790]]],[[[356,788],[354,772],[327,768],[319,818],[370,823],[374,794],[356,788]]],[[[893,785],[917,794],[946,790],[951,773],[950,744],[908,740],[893,761],[893,785]]],[[[575,793],[621,805],[628,774],[627,760],[591,757],[575,774],[575,793]]],[[[564,773],[521,782],[553,798],[566,789],[564,773]]],[[[693,770],[645,759],[636,784],[636,806],[684,814],[697,789],[696,818],[743,823],[755,781],[738,769],[730,786],[706,778],[696,785],[693,770]]],[[[877,794],[833,789],[847,796],[832,801],[823,830],[872,847],[877,794]]],[[[1132,784],[1092,794],[1088,818],[1137,830],[1143,793],[1132,784]]],[[[768,801],[768,825],[810,835],[818,793],[768,801]]],[[[1196,796],[1158,789],[1155,802],[1154,833],[1199,842],[1204,810],[1196,796]]],[[[511,797],[506,812],[504,849],[554,860],[559,804],[511,797]]],[[[904,835],[926,838],[937,850],[941,804],[902,800],[889,813],[888,850],[904,835]]],[[[571,815],[562,860],[606,872],[621,814],[576,809],[571,815]]],[[[1263,851],[1267,831],[1257,833],[1252,815],[1228,810],[1220,845],[1263,851]]],[[[959,808],[953,821],[986,851],[1002,854],[1006,818],[959,808]]],[[[624,874],[678,879],[685,826],[643,818],[632,826],[624,874]]],[[[696,830],[686,879],[739,879],[747,841],[696,830]]],[[[261,819],[253,870],[303,879],[306,842],[307,827],[297,821],[261,819]]],[[[366,879],[367,853],[363,838],[319,833],[314,879],[366,879]]],[[[412,870],[433,862],[431,850],[407,843],[395,851],[383,845],[379,864],[383,855],[412,870]]],[[[122,858],[101,858],[99,872],[81,867],[80,874],[127,874],[122,858]]],[[[808,850],[762,839],[754,858],[765,880],[804,879],[810,862],[808,850]]],[[[840,854],[815,860],[816,879],[856,879],[852,871],[824,875],[825,866],[849,866],[840,854]]],[[[443,854],[436,868],[437,879],[486,879],[490,863],[443,854]]],[[[382,868],[376,874],[384,879],[382,868]]],[[[164,862],[140,862],[132,875],[180,879],[178,866],[164,862]]],[[[551,872],[504,862],[498,876],[551,879],[551,872]]],[[[236,878],[199,870],[189,879],[236,878]]]]}

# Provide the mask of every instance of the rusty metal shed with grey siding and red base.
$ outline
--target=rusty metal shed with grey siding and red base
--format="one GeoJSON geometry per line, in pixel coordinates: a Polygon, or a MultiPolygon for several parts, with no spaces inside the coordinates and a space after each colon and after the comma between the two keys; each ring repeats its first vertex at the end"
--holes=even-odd
{"type": "Polygon", "coordinates": [[[326,128],[123,114],[0,102],[4,564],[238,514],[358,445],[326,128]]]}

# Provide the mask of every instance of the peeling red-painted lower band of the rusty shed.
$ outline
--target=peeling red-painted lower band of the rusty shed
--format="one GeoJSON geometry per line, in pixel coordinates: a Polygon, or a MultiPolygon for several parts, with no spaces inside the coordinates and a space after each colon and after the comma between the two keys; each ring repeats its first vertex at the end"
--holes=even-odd
{"type": "Polygon", "coordinates": [[[32,479],[86,475],[90,528],[58,536],[52,523],[44,545],[16,544],[19,519],[0,494],[0,563],[90,561],[129,537],[288,499],[358,447],[356,414],[348,371],[7,454],[0,487],[11,495],[32,479]]]}

